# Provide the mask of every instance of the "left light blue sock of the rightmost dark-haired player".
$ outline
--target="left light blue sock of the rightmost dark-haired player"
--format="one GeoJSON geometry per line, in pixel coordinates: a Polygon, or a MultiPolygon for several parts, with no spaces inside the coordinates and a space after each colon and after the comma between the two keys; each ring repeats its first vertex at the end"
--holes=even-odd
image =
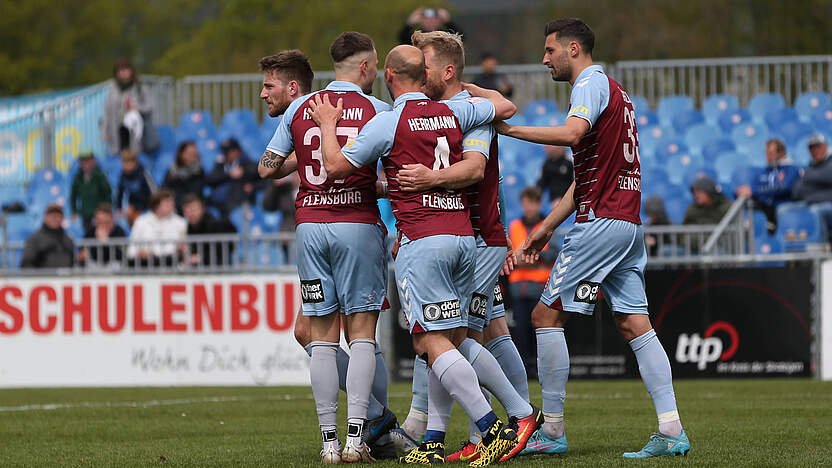
{"type": "Polygon", "coordinates": [[[543,430],[551,437],[563,435],[563,403],[569,379],[569,350],[563,328],[538,328],[537,373],[543,393],[543,430]]]}

